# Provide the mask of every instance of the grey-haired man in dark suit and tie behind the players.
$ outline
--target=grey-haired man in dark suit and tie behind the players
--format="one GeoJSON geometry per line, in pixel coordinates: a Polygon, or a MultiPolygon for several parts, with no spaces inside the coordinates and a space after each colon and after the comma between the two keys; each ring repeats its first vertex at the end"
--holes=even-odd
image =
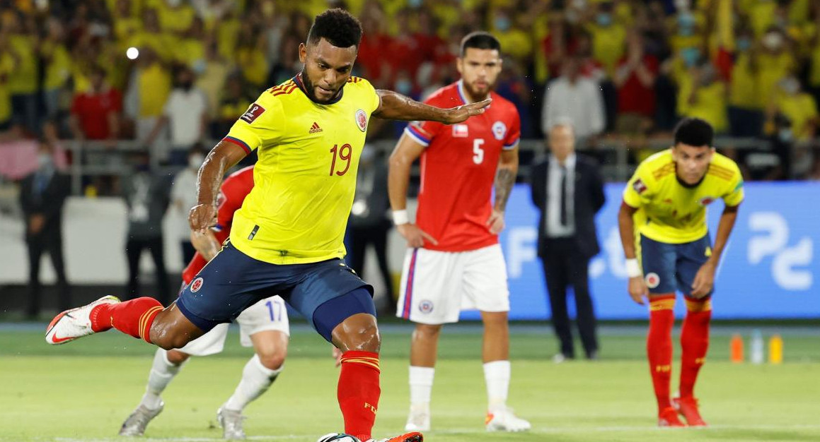
{"type": "Polygon", "coordinates": [[[598,338],[587,268],[599,252],[595,214],[604,205],[604,183],[593,160],[575,153],[570,122],[549,130],[551,155],[534,165],[532,202],[540,211],[538,256],[544,264],[553,327],[561,345],[555,362],[573,359],[567,286],[575,292],[578,331],[586,357],[597,359],[598,338]]]}

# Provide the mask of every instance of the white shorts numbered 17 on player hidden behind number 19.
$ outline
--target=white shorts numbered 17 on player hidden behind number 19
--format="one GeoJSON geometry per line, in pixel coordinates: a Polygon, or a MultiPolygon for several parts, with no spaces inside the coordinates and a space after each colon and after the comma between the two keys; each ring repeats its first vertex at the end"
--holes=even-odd
{"type": "MultiPolygon", "coordinates": [[[[282,331],[290,336],[288,310],[285,309],[285,300],[279,296],[271,296],[244,309],[236,322],[239,322],[239,343],[243,347],[253,346],[250,336],[259,331],[282,331]]],[[[179,350],[193,356],[221,353],[225,347],[225,337],[228,336],[228,327],[230,324],[219,324],[179,350]]]]}

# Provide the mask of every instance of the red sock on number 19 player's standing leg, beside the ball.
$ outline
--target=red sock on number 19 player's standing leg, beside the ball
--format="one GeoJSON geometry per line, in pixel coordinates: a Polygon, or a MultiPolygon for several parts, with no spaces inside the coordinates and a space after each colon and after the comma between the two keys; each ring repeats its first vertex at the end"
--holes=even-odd
{"type": "Polygon", "coordinates": [[[344,417],[344,432],[359,440],[371,438],[376,410],[379,408],[379,354],[346,351],[339,373],[339,408],[344,417]]]}

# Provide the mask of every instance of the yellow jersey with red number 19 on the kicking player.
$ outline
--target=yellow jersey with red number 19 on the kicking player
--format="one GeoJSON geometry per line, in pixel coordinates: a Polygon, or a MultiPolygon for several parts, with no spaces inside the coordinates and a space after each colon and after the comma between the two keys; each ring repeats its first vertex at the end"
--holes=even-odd
{"type": "Polygon", "coordinates": [[[258,149],[253,190],[234,215],[231,243],[271,264],[341,258],[367,121],[380,104],[351,77],[331,104],[311,101],[298,77],[270,88],[225,141],[258,149]]]}

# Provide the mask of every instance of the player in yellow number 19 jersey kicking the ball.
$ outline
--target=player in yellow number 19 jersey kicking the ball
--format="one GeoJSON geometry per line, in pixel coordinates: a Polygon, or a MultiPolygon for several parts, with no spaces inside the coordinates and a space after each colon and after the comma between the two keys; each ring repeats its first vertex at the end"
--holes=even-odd
{"type": "MultiPolygon", "coordinates": [[[[303,70],[262,92],[199,169],[193,230],[214,222],[222,176],[257,149],[254,187],[230,239],[162,309],[153,298],[107,296],[57,315],[46,331],[61,344],[112,327],[166,350],[180,348],[248,306],[280,295],[341,350],[338,399],[344,431],[371,440],[379,404],[380,337],[372,287],[348,268],[344,228],[371,116],[459,123],[490,100],[440,109],[351,76],[362,27],[341,9],[316,17],[299,47],[303,70]]],[[[421,442],[410,432],[390,442],[421,442]]]]}

